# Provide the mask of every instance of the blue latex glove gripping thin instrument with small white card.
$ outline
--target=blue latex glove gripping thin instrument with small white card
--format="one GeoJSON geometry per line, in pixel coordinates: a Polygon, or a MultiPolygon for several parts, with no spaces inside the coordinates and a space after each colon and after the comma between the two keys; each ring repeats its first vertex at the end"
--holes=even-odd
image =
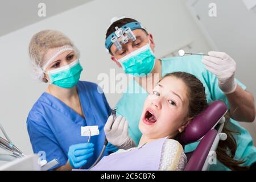
{"type": "Polygon", "coordinates": [[[87,162],[86,159],[93,156],[93,143],[73,144],[68,150],[68,160],[73,168],[80,168],[87,162]]]}

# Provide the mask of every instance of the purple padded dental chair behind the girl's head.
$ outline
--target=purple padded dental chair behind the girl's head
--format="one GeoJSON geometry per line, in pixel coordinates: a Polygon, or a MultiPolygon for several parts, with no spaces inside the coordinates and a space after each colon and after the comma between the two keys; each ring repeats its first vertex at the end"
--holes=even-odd
{"type": "Polygon", "coordinates": [[[220,140],[226,140],[225,133],[221,133],[225,117],[228,111],[225,103],[222,101],[212,102],[207,109],[202,111],[194,118],[177,140],[185,146],[185,144],[197,142],[200,143],[196,150],[188,152],[188,163],[185,171],[206,171],[209,169],[209,160],[214,155],[214,151],[220,140]]]}

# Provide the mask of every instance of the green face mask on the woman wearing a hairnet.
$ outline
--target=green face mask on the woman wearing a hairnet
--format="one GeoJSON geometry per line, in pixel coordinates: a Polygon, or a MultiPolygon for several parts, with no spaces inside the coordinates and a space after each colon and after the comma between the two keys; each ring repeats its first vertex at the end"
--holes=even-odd
{"type": "Polygon", "coordinates": [[[82,72],[82,67],[79,60],[73,61],[71,64],[48,71],[51,84],[60,86],[61,88],[72,88],[79,81],[82,72]]]}

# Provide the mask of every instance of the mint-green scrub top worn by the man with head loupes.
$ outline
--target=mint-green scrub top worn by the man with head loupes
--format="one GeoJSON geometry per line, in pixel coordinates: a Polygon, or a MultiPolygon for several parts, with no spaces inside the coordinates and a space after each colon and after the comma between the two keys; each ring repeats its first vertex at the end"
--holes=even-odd
{"type": "MultiPolygon", "coordinates": [[[[217,77],[205,68],[205,65],[201,62],[202,58],[203,57],[199,55],[191,55],[162,59],[162,76],[166,75],[166,73],[177,71],[191,73],[203,83],[208,103],[215,100],[222,100],[229,108],[228,99],[218,87],[217,77]]],[[[246,89],[245,85],[238,80],[236,81],[242,89],[246,89]]],[[[147,96],[148,93],[135,80],[132,80],[126,92],[123,93],[122,98],[117,103],[117,115],[123,115],[123,117],[127,119],[129,122],[129,135],[137,145],[142,135],[138,125],[144,101],[147,96]]],[[[253,146],[253,139],[249,132],[232,118],[230,118],[228,127],[240,133],[240,135],[234,135],[237,142],[235,158],[246,161],[243,164],[246,166],[250,166],[252,163],[256,162],[256,147],[253,146]]],[[[195,150],[198,143],[199,142],[185,146],[185,152],[195,150]]],[[[217,164],[210,165],[210,170],[229,170],[229,168],[225,167],[217,160],[217,164]]]]}

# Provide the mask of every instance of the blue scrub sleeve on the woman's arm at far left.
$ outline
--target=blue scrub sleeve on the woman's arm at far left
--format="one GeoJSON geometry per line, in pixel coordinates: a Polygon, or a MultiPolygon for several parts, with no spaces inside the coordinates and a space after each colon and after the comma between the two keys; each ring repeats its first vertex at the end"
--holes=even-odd
{"type": "MultiPolygon", "coordinates": [[[[35,154],[38,154],[38,152],[43,154],[45,152],[47,162],[57,159],[59,164],[53,168],[63,166],[67,163],[67,158],[63,150],[60,148],[59,143],[56,142],[55,136],[48,127],[40,125],[40,121],[35,122],[28,118],[27,130],[35,154]]],[[[40,155],[40,157],[43,156],[40,155]]]]}

